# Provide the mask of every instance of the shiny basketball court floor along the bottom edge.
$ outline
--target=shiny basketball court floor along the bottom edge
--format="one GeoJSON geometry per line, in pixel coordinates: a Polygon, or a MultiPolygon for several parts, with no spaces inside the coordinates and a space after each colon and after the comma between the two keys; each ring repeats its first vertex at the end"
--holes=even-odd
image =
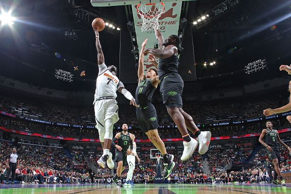
{"type": "Polygon", "coordinates": [[[0,194],[291,194],[291,184],[0,185],[0,194]]]}

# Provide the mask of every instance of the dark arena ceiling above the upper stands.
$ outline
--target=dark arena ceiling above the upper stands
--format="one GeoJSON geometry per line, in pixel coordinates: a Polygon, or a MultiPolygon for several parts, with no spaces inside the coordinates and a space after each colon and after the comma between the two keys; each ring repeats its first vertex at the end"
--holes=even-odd
{"type": "MultiPolygon", "coordinates": [[[[189,2],[186,19],[187,27],[192,27],[198,79],[186,84],[208,90],[282,76],[279,65],[291,61],[291,0],[240,0],[237,6],[208,24],[201,27],[191,24],[223,1],[189,2]],[[268,70],[248,75],[242,72],[245,65],[264,57],[268,70]],[[216,65],[204,67],[204,62],[212,61],[216,61],[216,65]],[[234,74],[219,77],[219,74],[229,73],[234,74]]],[[[3,0],[1,6],[7,10],[11,2],[3,0]]],[[[95,35],[91,18],[86,18],[89,12],[119,26],[128,40],[128,45],[122,45],[121,49],[131,47],[124,6],[93,7],[89,0],[19,0],[12,7],[15,7],[12,14],[19,21],[13,25],[14,31],[1,28],[0,75],[41,87],[94,90],[95,83],[83,79],[94,80],[97,73],[95,35]],[[87,72],[86,77],[73,72],[78,79],[68,83],[56,80],[52,74],[55,68],[72,71],[77,65],[79,71],[87,72]],[[44,69],[45,73],[41,71],[44,69]]],[[[107,64],[119,64],[119,32],[104,30],[100,36],[107,64]]],[[[127,58],[135,68],[131,52],[121,57],[127,58]]]]}

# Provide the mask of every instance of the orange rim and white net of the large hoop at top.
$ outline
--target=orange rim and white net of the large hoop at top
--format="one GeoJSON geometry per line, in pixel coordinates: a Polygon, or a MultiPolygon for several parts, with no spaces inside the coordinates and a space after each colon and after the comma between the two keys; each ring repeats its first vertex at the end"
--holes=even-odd
{"type": "Polygon", "coordinates": [[[159,28],[159,18],[165,11],[165,4],[160,3],[139,3],[137,6],[137,13],[143,19],[142,32],[148,30],[155,30],[159,28]]]}

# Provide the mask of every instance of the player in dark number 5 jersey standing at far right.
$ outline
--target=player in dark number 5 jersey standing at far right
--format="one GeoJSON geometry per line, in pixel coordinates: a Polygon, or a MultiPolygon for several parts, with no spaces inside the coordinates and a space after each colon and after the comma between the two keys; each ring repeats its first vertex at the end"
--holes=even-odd
{"type": "Polygon", "coordinates": [[[277,177],[279,176],[281,179],[281,184],[286,186],[286,182],[282,177],[280,165],[280,151],[279,151],[279,144],[284,145],[290,152],[291,148],[284,144],[279,137],[279,133],[277,130],[273,129],[273,123],[271,121],[266,122],[267,129],[263,129],[262,134],[259,138],[259,142],[263,144],[267,148],[267,154],[274,163],[274,180],[272,183],[279,184],[277,177]]]}

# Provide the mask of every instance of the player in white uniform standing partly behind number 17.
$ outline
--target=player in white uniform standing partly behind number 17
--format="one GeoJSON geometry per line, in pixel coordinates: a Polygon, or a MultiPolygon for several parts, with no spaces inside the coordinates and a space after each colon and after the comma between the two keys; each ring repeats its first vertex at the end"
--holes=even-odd
{"type": "Polygon", "coordinates": [[[128,172],[124,185],[133,185],[132,175],[135,168],[135,157],[137,158],[138,162],[141,162],[139,156],[136,153],[136,143],[134,142],[134,139],[135,135],[132,134],[133,149],[132,152],[127,155],[128,172]]]}

